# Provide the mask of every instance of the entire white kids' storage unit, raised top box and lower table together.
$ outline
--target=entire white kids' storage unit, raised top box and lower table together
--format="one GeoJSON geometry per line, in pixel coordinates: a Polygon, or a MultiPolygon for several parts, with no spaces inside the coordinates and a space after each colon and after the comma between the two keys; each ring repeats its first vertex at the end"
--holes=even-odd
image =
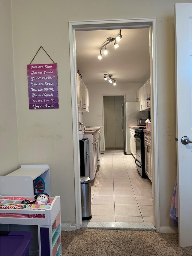
{"type": "MultiPolygon", "coordinates": [[[[29,231],[33,234],[34,247],[29,248],[30,255],[61,256],[61,217],[60,197],[50,197],[50,169],[48,164],[24,164],[21,168],[5,176],[0,176],[1,204],[21,203],[19,200],[5,200],[4,197],[25,197],[34,201],[34,180],[44,180],[44,193],[52,199],[49,209],[0,209],[0,213],[43,214],[45,218],[0,217],[3,231],[29,231]],[[37,244],[37,245],[36,245],[37,244]]],[[[33,242],[32,242],[33,243],[33,242]]]]}

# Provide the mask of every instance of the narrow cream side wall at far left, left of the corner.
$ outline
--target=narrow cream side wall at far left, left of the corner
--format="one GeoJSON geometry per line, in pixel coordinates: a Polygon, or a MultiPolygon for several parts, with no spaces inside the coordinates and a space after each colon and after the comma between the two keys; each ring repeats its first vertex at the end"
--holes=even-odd
{"type": "Polygon", "coordinates": [[[11,1],[1,1],[1,134],[0,134],[0,173],[18,169],[19,145],[15,101],[15,82],[13,68],[11,1]]]}

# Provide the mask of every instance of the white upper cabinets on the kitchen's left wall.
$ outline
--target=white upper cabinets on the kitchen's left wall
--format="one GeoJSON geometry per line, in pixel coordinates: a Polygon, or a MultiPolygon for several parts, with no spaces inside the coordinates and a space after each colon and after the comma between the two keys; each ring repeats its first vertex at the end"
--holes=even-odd
{"type": "Polygon", "coordinates": [[[77,73],[77,101],[79,112],[89,112],[88,88],[77,73]]]}

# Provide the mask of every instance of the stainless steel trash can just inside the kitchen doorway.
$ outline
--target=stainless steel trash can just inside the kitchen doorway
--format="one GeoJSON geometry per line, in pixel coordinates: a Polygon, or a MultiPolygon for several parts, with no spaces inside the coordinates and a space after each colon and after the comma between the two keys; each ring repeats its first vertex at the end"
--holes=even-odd
{"type": "Polygon", "coordinates": [[[82,220],[90,220],[91,216],[91,180],[81,177],[81,209],[82,220]]]}

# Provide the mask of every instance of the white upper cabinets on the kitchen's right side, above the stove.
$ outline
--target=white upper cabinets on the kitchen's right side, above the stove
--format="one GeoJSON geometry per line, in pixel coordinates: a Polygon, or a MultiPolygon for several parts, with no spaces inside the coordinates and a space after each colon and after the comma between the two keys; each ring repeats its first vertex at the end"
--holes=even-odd
{"type": "Polygon", "coordinates": [[[149,109],[151,107],[151,84],[150,84],[150,78],[136,92],[136,101],[139,101],[139,103],[140,103],[140,111],[147,110],[147,109],[149,109]]]}

